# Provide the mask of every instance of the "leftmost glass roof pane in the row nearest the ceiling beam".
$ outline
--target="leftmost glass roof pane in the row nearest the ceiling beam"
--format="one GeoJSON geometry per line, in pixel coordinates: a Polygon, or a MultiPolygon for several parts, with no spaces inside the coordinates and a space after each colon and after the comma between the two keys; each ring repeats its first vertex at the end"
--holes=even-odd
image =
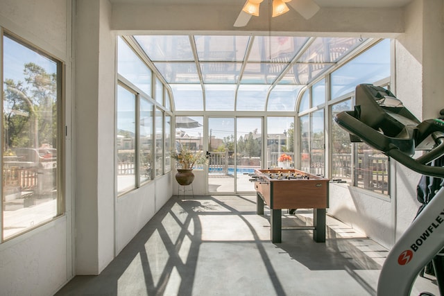
{"type": "Polygon", "coordinates": [[[189,36],[134,36],[150,60],[194,61],[189,36]]]}

